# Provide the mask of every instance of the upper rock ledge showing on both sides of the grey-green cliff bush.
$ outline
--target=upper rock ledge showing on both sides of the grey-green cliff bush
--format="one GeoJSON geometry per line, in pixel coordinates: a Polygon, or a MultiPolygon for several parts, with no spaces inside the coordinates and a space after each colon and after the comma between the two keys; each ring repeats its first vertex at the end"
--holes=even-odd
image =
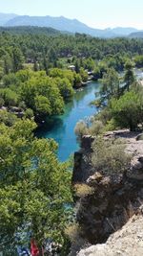
{"type": "MultiPolygon", "coordinates": [[[[104,134],[106,140],[118,138],[124,140],[126,152],[133,155],[128,175],[136,179],[143,179],[143,141],[140,139],[141,135],[139,132],[131,132],[128,129],[114,130],[104,134]]],[[[80,151],[74,153],[72,183],[87,182],[87,179],[94,174],[90,158],[94,139],[94,136],[83,136],[80,151]]]]}

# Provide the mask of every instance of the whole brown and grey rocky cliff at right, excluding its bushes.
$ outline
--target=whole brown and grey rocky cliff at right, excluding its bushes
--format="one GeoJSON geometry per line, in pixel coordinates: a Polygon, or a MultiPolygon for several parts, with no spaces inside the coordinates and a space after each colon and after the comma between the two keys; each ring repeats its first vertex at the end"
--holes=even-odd
{"type": "MultiPolygon", "coordinates": [[[[105,139],[112,137],[124,138],[125,151],[133,155],[131,167],[126,174],[101,175],[100,173],[95,173],[90,160],[93,137],[84,137],[81,151],[74,155],[75,165],[72,182],[86,183],[93,188],[92,195],[79,199],[77,211],[77,221],[82,230],[82,239],[89,244],[105,243],[112,233],[119,230],[134,214],[138,213],[138,209],[143,203],[143,142],[138,140],[139,136],[136,133],[127,130],[109,132],[105,135],[105,139]]],[[[139,213],[138,218],[141,221],[141,211],[139,213]]],[[[137,224],[138,221],[136,220],[135,226],[137,224]]],[[[133,230],[135,230],[135,227],[133,230]]],[[[140,226],[138,226],[137,230],[137,232],[140,232],[140,226]]],[[[137,233],[134,232],[133,236],[137,236],[137,233]]],[[[124,237],[123,235],[121,239],[124,240],[124,237]]],[[[133,240],[134,237],[131,239],[133,240]]],[[[115,240],[113,239],[114,237],[108,240],[110,244],[96,245],[96,247],[93,247],[93,252],[91,249],[87,249],[85,252],[81,251],[79,256],[135,255],[126,254],[126,251],[122,254],[121,252],[120,254],[115,254],[114,251],[117,251],[116,248],[117,246],[119,247],[119,242],[112,247],[112,241],[115,240]],[[111,247],[113,248],[112,250],[111,247]],[[100,248],[102,248],[102,253],[99,252],[100,248]],[[106,254],[107,248],[109,248],[109,254],[106,254]]],[[[139,243],[139,240],[137,241],[139,243]]],[[[76,255],[75,252],[72,255],[76,255]]]]}

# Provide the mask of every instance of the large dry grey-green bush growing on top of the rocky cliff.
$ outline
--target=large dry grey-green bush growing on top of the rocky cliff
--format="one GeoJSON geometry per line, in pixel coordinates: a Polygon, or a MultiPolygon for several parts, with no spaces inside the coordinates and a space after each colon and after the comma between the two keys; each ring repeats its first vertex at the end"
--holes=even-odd
{"type": "Polygon", "coordinates": [[[106,175],[123,173],[130,165],[131,155],[125,153],[123,140],[97,138],[92,144],[92,166],[106,175]]]}

